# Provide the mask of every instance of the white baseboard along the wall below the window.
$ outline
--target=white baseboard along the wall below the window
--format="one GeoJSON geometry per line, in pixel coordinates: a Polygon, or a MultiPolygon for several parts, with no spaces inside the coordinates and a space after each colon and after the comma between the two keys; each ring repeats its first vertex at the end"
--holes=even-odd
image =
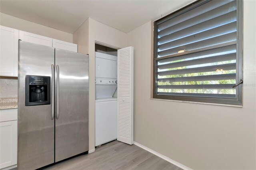
{"type": "Polygon", "coordinates": [[[154,155],[156,155],[156,156],[158,156],[158,157],[160,157],[160,158],[162,158],[162,159],[164,159],[164,160],[166,160],[166,161],[168,161],[168,162],[170,162],[170,163],[172,163],[176,166],[178,166],[179,168],[182,168],[184,170],[192,170],[191,168],[188,168],[187,166],[182,165],[179,162],[176,162],[175,160],[172,160],[172,159],[170,159],[170,158],[168,158],[168,157],[166,157],[166,156],[164,156],[164,155],[162,155],[162,154],[160,154],[160,153],[158,153],[158,152],[156,152],[156,151],[154,151],[154,150],[152,150],[152,149],[150,149],[150,148],[148,148],[148,147],[146,147],[142,144],[139,144],[135,141],[133,141],[133,144],[135,144],[135,145],[139,146],[140,148],[142,148],[142,149],[144,149],[144,150],[146,150],[146,151],[148,151],[148,152],[150,152],[150,153],[152,153],[152,154],[154,154],[154,155]]]}

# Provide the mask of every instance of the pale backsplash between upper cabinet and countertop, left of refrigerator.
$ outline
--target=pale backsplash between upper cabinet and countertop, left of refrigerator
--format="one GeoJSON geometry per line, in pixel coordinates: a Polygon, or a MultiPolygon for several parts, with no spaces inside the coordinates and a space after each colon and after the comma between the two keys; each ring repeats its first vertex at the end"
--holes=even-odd
{"type": "Polygon", "coordinates": [[[18,80],[0,79],[0,98],[18,97],[18,80]]]}

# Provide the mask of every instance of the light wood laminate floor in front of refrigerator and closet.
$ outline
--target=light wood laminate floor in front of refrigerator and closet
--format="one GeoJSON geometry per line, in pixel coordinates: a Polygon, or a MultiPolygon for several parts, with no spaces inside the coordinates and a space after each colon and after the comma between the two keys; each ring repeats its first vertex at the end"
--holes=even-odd
{"type": "Polygon", "coordinates": [[[182,170],[136,146],[112,141],[90,154],[78,156],[44,170],[182,170]]]}

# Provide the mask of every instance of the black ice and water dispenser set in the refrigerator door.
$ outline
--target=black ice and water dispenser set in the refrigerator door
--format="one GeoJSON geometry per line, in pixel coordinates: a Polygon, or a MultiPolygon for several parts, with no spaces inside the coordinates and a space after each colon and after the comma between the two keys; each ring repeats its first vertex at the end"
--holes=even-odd
{"type": "Polygon", "coordinates": [[[48,76],[26,75],[25,106],[51,104],[50,78],[48,76]]]}

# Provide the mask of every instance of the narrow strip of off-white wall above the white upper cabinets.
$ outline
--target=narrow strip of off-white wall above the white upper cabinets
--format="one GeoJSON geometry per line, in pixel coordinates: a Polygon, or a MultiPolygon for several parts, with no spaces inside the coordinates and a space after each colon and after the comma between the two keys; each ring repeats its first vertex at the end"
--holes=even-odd
{"type": "Polygon", "coordinates": [[[14,28],[17,30],[31,32],[41,36],[54,38],[57,40],[62,40],[65,42],[73,42],[73,35],[70,33],[56,30],[54,28],[46,27],[40,24],[36,24],[34,22],[30,22],[27,20],[22,20],[20,18],[10,16],[4,13],[0,13],[0,25],[14,28]]]}

